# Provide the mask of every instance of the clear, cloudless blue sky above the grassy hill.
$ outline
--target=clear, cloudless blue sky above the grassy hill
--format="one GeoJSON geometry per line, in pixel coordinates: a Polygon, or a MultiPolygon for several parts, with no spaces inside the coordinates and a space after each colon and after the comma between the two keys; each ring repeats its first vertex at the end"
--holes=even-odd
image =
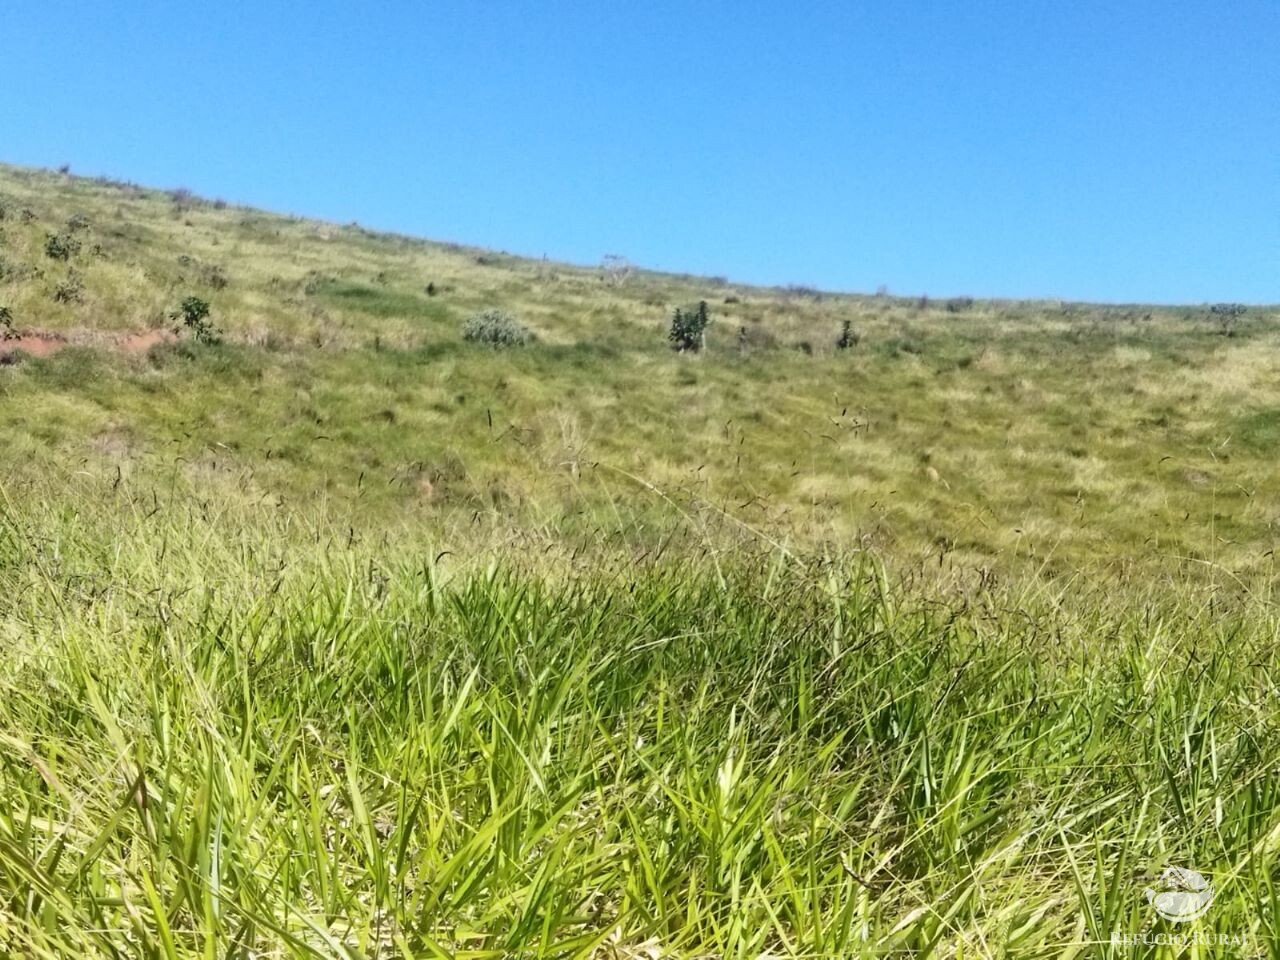
{"type": "Polygon", "coordinates": [[[8,3],[0,160],[596,262],[1280,301],[1280,1],[8,3]]]}

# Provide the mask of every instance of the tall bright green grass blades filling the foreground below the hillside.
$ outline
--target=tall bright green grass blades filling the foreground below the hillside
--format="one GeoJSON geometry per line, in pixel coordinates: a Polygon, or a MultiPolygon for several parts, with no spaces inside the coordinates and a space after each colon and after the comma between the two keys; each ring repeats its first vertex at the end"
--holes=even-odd
{"type": "Polygon", "coordinates": [[[6,955],[1276,952],[1266,598],[0,529],[6,955]]]}

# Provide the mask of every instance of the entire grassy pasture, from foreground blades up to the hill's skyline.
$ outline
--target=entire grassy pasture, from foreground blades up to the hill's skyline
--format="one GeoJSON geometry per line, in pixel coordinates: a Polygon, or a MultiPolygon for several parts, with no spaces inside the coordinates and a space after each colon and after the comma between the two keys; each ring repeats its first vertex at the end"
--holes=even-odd
{"type": "Polygon", "coordinates": [[[0,954],[1280,956],[1275,308],[0,210],[0,954]]]}

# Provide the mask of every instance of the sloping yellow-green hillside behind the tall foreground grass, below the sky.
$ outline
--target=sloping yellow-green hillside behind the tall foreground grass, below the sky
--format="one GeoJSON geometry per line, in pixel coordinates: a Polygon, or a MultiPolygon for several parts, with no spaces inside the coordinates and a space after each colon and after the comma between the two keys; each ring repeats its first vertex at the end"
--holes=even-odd
{"type": "Polygon", "coordinates": [[[13,168],[0,205],[0,306],[18,333],[70,344],[0,370],[19,499],[70,483],[285,504],[442,549],[479,526],[480,541],[760,536],[966,568],[1271,568],[1274,310],[1225,337],[1203,307],[618,279],[13,168]],[[78,250],[51,259],[63,234],[78,250]],[[120,348],[173,326],[187,296],[223,347],[120,348]],[[708,349],[677,355],[671,312],[699,300],[708,349]],[[462,342],[486,307],[536,343],[462,342]],[[859,342],[837,351],[844,321],[859,342]]]}

